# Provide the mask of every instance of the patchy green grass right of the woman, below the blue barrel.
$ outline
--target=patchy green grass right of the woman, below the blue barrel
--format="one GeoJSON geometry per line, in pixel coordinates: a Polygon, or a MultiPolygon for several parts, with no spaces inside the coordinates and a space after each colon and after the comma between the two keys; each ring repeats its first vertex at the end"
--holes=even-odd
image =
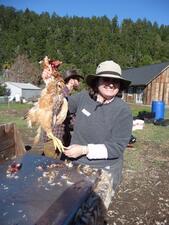
{"type": "MultiPolygon", "coordinates": [[[[139,111],[151,112],[150,106],[131,104],[133,116],[137,116],[139,111]]],[[[169,109],[165,109],[165,119],[169,119],[169,109]]],[[[149,160],[151,166],[157,168],[164,164],[162,159],[153,159],[153,155],[159,154],[169,146],[169,127],[156,126],[152,123],[145,123],[143,130],[133,131],[136,143],[133,148],[127,148],[124,154],[125,168],[133,171],[144,171],[145,163],[149,160]],[[154,149],[153,149],[154,148],[154,149]],[[148,156],[150,154],[150,156],[148,156]]]]}

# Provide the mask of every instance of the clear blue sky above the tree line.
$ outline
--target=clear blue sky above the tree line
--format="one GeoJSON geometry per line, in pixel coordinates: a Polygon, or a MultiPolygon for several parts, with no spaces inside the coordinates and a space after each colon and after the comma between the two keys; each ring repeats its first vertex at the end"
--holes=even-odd
{"type": "Polygon", "coordinates": [[[107,16],[112,19],[147,19],[169,25],[169,0],[0,0],[0,5],[16,10],[28,8],[38,14],[55,12],[58,16],[107,16]]]}

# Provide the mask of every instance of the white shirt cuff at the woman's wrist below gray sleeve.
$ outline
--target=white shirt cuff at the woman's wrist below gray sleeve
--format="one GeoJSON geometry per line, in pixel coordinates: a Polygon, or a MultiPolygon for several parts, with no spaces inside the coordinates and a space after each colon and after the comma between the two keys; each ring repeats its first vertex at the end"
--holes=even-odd
{"type": "Polygon", "coordinates": [[[104,144],[88,144],[88,159],[107,159],[108,152],[104,144]]]}

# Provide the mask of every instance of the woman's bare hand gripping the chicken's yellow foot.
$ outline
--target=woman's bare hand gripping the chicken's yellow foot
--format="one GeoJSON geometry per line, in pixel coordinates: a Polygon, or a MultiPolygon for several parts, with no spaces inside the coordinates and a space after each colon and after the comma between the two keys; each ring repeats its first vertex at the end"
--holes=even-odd
{"type": "Polygon", "coordinates": [[[87,155],[88,147],[86,145],[70,145],[65,148],[64,154],[69,158],[77,158],[82,155],[87,155]]]}

